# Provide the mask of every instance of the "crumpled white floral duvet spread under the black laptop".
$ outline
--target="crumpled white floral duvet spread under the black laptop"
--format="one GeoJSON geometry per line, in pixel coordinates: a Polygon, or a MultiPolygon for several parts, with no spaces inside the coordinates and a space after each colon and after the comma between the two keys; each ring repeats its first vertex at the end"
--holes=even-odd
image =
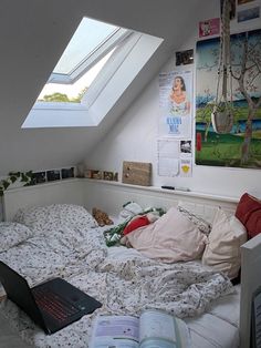
{"type": "Polygon", "coordinates": [[[95,297],[103,307],[48,336],[10,300],[1,301],[1,313],[34,347],[86,348],[98,314],[139,315],[144,308],[159,308],[180,318],[192,317],[203,313],[213,299],[232,291],[226,276],[198,262],[163,264],[136,250],[128,257],[116,257],[108,255],[102,228],[60,223],[49,226],[53,231],[36,233],[0,253],[0,259],[23,275],[30,286],[60,276],[95,297]]]}

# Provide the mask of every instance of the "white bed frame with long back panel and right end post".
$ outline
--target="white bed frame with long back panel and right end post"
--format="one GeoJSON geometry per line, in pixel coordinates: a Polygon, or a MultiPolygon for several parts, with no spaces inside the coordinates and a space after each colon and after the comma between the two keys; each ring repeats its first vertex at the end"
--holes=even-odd
{"type": "MultiPolygon", "coordinates": [[[[217,196],[196,192],[169,191],[160,187],[145,187],[115,182],[86,178],[64,180],[35,186],[8,190],[4,193],[4,219],[11,221],[19,208],[43,206],[53,203],[71,203],[85,206],[88,211],[96,206],[109,215],[116,215],[124,203],[135,201],[143,207],[158,206],[169,208],[179,201],[190,204],[197,213],[212,218],[220,206],[233,213],[239,197],[217,196]]],[[[261,283],[261,235],[242,247],[241,267],[241,348],[250,347],[251,299],[261,283]]]]}

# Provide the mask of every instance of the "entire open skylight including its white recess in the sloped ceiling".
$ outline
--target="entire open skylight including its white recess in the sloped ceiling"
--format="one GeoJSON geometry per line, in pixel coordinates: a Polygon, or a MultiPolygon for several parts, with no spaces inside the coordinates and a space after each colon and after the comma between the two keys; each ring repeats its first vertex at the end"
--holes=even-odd
{"type": "Polygon", "coordinates": [[[22,127],[100,124],[161,42],[83,18],[22,127]]]}

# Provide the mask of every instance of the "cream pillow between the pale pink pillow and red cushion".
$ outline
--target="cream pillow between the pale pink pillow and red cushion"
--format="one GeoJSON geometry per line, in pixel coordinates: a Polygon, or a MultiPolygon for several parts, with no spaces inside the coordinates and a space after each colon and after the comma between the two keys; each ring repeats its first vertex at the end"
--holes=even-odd
{"type": "Polygon", "coordinates": [[[241,263],[240,246],[246,242],[247,231],[240,221],[218,208],[202,264],[223,272],[230,279],[237,277],[241,263]]]}

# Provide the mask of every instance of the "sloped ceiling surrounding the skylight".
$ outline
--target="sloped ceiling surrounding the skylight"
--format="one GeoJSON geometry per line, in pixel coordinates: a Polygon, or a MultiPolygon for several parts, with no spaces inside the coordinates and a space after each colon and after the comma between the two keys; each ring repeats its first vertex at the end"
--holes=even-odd
{"type": "Polygon", "coordinates": [[[190,16],[208,0],[1,0],[0,176],[85,158],[191,34],[190,16]],[[165,39],[155,57],[97,127],[21,130],[83,16],[165,39]]]}

